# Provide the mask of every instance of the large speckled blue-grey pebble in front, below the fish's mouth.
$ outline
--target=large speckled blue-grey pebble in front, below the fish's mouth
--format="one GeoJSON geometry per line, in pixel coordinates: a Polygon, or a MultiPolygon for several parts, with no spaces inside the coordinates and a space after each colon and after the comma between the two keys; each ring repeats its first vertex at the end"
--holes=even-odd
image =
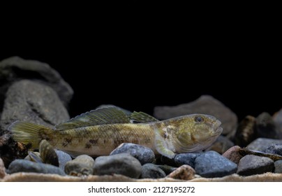
{"type": "Polygon", "coordinates": [[[195,172],[202,177],[222,177],[234,174],[236,171],[237,164],[214,151],[203,153],[195,159],[195,172]]]}

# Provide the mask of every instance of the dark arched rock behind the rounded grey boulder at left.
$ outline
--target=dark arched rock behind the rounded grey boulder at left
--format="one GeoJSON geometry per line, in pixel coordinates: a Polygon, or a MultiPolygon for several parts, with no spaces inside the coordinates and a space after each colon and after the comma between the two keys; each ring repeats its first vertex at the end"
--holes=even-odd
{"type": "MultiPolygon", "coordinates": [[[[73,89],[60,74],[48,64],[20,57],[10,57],[0,62],[0,107],[8,86],[20,79],[40,80],[41,83],[52,87],[61,101],[67,106],[73,97],[73,89]]],[[[1,109],[0,109],[1,111],[1,109]]]]}

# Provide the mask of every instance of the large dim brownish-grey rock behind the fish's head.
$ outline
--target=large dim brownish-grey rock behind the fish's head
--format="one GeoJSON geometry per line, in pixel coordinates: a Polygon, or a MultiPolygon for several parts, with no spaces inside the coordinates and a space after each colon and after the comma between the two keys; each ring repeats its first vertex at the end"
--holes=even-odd
{"type": "Polygon", "coordinates": [[[188,104],[178,106],[156,106],[154,116],[158,119],[168,119],[177,116],[184,116],[192,113],[204,113],[215,116],[221,120],[224,135],[235,130],[237,126],[237,116],[228,107],[223,105],[214,97],[202,95],[199,99],[188,104]]]}

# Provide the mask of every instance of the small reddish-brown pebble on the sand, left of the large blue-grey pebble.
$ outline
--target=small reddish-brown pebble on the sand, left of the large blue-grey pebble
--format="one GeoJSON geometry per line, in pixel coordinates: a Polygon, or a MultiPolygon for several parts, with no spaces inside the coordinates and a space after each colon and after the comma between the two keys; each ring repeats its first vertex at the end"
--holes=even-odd
{"type": "Polygon", "coordinates": [[[189,181],[195,178],[195,170],[189,165],[182,165],[178,167],[175,171],[171,172],[167,177],[172,179],[180,179],[184,181],[189,181]]]}

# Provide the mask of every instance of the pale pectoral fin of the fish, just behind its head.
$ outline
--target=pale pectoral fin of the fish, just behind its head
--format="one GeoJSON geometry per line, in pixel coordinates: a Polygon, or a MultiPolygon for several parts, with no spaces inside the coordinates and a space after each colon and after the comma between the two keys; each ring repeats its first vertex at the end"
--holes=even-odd
{"type": "Polygon", "coordinates": [[[156,151],[167,158],[175,158],[175,153],[173,152],[175,151],[175,148],[170,141],[165,140],[165,137],[163,136],[165,132],[163,132],[163,130],[155,129],[155,134],[156,151]]]}

